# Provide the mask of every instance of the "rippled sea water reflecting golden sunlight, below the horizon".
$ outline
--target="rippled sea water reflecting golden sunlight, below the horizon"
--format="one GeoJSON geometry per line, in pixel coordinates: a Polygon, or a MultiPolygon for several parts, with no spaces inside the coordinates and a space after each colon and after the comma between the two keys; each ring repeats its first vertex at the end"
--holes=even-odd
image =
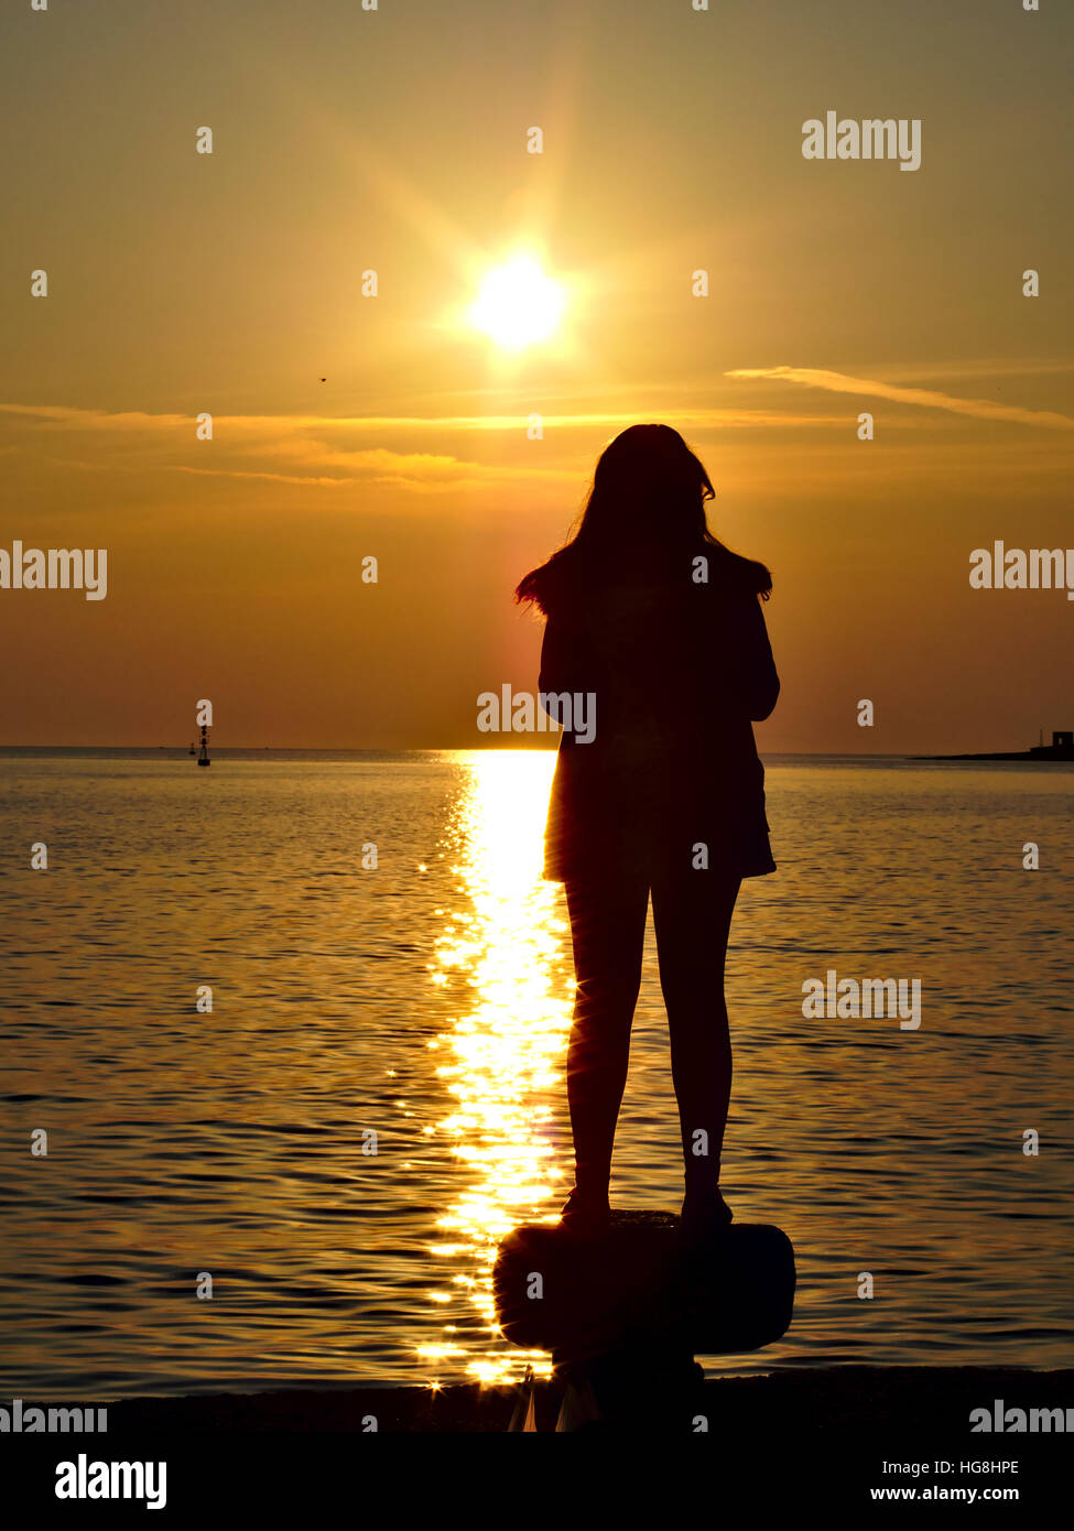
{"type": "MultiPolygon", "coordinates": [[[[0,752],[0,1395],[519,1375],[492,1254],[571,1179],[552,762],[0,752]]],[[[722,1183],[798,1294],[706,1369],[1074,1364],[1074,770],[766,766],[722,1183]],[[919,1026],[804,1015],[829,971],[919,1026]]],[[[613,1200],[680,1194],[650,931],[613,1200]]]]}

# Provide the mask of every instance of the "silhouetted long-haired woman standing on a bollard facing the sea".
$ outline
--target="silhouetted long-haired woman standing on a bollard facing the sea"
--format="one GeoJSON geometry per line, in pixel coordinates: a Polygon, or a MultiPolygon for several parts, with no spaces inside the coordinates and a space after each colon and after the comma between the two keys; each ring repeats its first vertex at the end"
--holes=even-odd
{"type": "Polygon", "coordinates": [[[683,1228],[703,1236],[731,1220],[719,1188],[731,1095],[723,963],[742,879],[775,871],[751,720],[771,713],[780,681],[758,602],[771,576],[708,530],[712,496],[676,430],[631,426],[599,458],[575,537],[515,592],[547,617],[541,692],[565,724],[544,876],[565,883],[575,948],[576,1171],[562,1216],[579,1232],[608,1219],[650,894],[683,1228]],[[581,697],[582,718],[564,712],[565,692],[573,709],[581,697]]]}

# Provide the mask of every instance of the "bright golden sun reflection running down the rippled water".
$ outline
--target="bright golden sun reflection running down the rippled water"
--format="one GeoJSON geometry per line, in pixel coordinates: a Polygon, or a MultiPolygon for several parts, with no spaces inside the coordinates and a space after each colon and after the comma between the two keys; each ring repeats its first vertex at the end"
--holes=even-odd
{"type": "Polygon", "coordinates": [[[438,1219],[454,1234],[435,1246],[457,1268],[454,1291],[429,1294],[455,1323],[444,1324],[443,1344],[420,1353],[469,1356],[466,1370],[495,1382],[521,1375],[527,1361],[538,1373],[550,1369],[539,1352],[496,1343],[492,1263],[504,1234],[522,1222],[555,1222],[564,1200],[568,1160],[553,1162],[553,1105],[562,1101],[573,972],[558,885],[541,880],[555,755],[498,750],[466,766],[455,871],[470,908],[452,916],[438,942],[434,983],[461,972],[473,998],[432,1047],[447,1055],[437,1072],[457,1101],[437,1131],[450,1134],[467,1173],[463,1194],[438,1219]],[[480,1349],[467,1347],[467,1332],[481,1337],[480,1349]]]}

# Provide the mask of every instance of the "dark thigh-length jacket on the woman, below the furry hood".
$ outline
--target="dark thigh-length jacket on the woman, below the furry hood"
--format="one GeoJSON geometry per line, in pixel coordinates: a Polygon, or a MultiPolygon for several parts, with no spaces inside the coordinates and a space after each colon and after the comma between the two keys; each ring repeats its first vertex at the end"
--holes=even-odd
{"type": "Polygon", "coordinates": [[[593,741],[571,718],[559,743],[547,879],[691,867],[699,845],[728,874],[775,871],[751,720],[772,712],[780,680],[742,580],[634,579],[553,605],[541,692],[596,703],[593,741]]]}

